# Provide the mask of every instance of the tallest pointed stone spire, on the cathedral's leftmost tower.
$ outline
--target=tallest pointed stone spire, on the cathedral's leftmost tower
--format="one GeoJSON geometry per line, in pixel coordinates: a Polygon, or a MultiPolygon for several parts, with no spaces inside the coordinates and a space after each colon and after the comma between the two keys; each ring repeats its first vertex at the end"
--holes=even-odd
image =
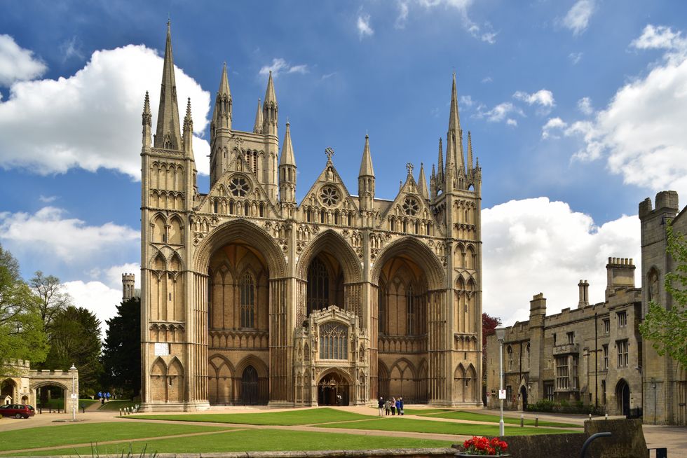
{"type": "Polygon", "coordinates": [[[165,45],[158,127],[155,132],[154,146],[178,150],[181,147],[180,137],[177,83],[174,78],[174,59],[172,58],[172,30],[170,22],[167,22],[167,43],[165,45]]]}

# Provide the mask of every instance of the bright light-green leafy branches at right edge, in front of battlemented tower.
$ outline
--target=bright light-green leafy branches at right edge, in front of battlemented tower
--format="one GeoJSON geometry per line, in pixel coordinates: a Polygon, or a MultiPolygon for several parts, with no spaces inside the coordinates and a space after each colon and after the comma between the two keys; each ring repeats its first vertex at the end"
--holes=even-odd
{"type": "Polygon", "coordinates": [[[670,309],[653,300],[639,332],[656,349],[687,367],[687,242],[685,235],[667,226],[667,254],[676,266],[665,275],[665,292],[673,299],[670,309]]]}

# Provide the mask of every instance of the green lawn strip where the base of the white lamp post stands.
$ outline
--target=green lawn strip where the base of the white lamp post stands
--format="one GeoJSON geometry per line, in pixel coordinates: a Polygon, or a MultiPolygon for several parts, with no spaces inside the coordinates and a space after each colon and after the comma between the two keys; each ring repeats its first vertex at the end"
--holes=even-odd
{"type": "MultiPolygon", "coordinates": [[[[433,420],[421,420],[403,417],[384,417],[369,419],[362,422],[341,422],[336,424],[318,425],[320,428],[346,428],[346,429],[373,429],[379,431],[405,431],[416,433],[459,434],[464,436],[498,436],[498,424],[494,426],[485,424],[435,422],[433,420]]],[[[566,429],[540,429],[529,427],[508,426],[505,429],[506,436],[524,436],[527,434],[556,434],[571,433],[575,431],[566,429]]]]}

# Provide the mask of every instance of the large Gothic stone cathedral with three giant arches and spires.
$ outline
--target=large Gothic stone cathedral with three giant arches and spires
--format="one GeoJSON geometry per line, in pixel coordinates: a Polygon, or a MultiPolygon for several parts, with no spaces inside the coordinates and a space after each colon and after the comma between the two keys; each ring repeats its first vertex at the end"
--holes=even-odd
{"type": "Polygon", "coordinates": [[[200,193],[168,25],[154,134],[148,95],[143,110],[142,410],[481,405],[482,169],[455,76],[436,168],[408,164],[392,199],[375,193],[366,135],[357,195],[327,148],[297,201],[271,74],[252,132],[232,127],[232,100],[225,66],[200,193]]]}

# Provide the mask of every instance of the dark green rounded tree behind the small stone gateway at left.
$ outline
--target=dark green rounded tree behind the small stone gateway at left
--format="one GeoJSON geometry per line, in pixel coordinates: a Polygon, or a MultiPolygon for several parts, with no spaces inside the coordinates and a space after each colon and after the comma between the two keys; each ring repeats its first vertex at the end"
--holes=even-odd
{"type": "Polygon", "coordinates": [[[70,305],[55,312],[50,323],[50,351],[46,368],[79,370],[79,391],[94,394],[102,374],[100,320],[83,307],[70,305]]]}

